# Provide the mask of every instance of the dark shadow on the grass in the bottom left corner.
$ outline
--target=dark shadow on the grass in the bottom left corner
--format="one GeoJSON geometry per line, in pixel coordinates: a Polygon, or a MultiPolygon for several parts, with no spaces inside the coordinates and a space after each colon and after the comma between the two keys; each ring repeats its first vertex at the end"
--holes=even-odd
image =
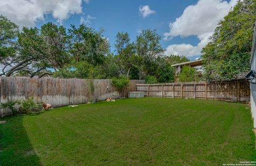
{"type": "Polygon", "coordinates": [[[23,116],[2,118],[0,124],[0,165],[41,165],[23,127],[23,116]]]}

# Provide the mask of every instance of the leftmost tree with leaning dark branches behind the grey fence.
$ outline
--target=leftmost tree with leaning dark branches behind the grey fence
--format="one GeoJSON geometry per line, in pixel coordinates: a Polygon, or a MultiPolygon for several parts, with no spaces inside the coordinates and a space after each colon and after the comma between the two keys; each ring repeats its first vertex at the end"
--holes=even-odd
{"type": "MultiPolygon", "coordinates": [[[[13,76],[15,74],[30,73],[34,77],[42,71],[39,55],[35,53],[31,45],[41,47],[42,40],[36,28],[23,28],[20,32],[18,26],[1,15],[1,64],[0,76],[13,76]],[[33,40],[30,40],[33,39],[33,40]],[[35,43],[34,43],[35,42],[35,43]],[[28,49],[23,46],[27,46],[28,49]],[[40,64],[40,65],[39,65],[40,64]]],[[[34,47],[35,48],[35,47],[34,47]]],[[[27,76],[27,74],[26,74],[27,76]]],[[[41,75],[42,76],[42,75],[41,75]]]]}

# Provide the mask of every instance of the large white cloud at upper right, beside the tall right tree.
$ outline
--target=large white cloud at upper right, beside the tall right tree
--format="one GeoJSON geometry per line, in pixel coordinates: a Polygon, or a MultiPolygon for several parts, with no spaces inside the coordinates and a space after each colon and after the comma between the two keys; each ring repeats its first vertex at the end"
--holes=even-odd
{"type": "Polygon", "coordinates": [[[200,42],[196,45],[173,44],[166,48],[166,54],[200,55],[202,48],[209,43],[209,37],[213,34],[218,22],[228,14],[237,0],[229,3],[222,0],[199,0],[196,5],[189,5],[182,15],[170,23],[170,31],[164,33],[164,40],[175,36],[188,37],[196,35],[200,42]]]}

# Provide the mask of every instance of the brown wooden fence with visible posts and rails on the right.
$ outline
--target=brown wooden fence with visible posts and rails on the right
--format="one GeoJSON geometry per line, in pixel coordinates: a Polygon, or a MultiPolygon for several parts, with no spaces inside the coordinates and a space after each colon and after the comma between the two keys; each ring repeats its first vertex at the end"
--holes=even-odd
{"type": "Polygon", "coordinates": [[[156,97],[250,101],[250,83],[246,79],[219,82],[137,84],[137,91],[145,92],[145,96],[156,97]]]}

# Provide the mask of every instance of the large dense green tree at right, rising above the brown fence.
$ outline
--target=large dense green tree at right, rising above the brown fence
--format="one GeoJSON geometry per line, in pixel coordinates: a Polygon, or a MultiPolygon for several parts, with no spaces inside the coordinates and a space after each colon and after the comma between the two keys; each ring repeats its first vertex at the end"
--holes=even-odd
{"type": "Polygon", "coordinates": [[[215,29],[203,52],[205,77],[234,79],[250,70],[250,54],[256,20],[256,1],[238,1],[215,29]]]}

